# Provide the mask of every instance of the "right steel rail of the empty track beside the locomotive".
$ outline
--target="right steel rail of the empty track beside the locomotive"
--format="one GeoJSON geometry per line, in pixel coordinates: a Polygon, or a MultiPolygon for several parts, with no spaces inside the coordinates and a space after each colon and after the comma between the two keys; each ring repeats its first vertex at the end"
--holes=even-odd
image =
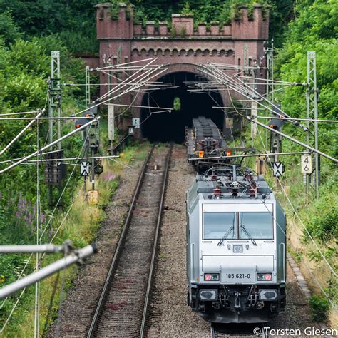
{"type": "Polygon", "coordinates": [[[156,222],[155,238],[153,242],[153,253],[151,255],[151,262],[150,262],[150,268],[149,268],[147,291],[145,293],[143,317],[142,317],[142,322],[141,322],[141,327],[140,327],[140,338],[145,337],[145,333],[147,329],[146,322],[148,318],[148,307],[150,304],[151,287],[153,286],[153,275],[154,275],[154,270],[155,270],[155,260],[156,260],[156,254],[158,251],[158,235],[160,232],[160,224],[161,224],[162,215],[163,215],[163,203],[164,203],[164,198],[165,198],[165,190],[167,187],[168,170],[169,170],[169,163],[170,163],[172,150],[173,150],[173,144],[170,143],[169,152],[165,160],[165,170],[163,173],[163,183],[162,183],[162,191],[160,195],[160,205],[158,205],[158,218],[156,222]]]}

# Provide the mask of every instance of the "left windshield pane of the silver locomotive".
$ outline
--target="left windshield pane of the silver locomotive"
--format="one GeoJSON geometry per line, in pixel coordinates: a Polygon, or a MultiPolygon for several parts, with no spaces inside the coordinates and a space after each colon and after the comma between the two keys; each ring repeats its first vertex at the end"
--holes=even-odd
{"type": "Polygon", "coordinates": [[[237,237],[235,212],[203,212],[203,239],[222,240],[225,235],[227,240],[237,237]]]}

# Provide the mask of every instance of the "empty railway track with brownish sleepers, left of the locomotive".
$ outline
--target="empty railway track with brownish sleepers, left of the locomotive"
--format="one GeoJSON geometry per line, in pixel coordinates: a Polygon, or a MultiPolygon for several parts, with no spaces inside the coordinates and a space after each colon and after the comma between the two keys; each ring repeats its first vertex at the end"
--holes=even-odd
{"type": "Polygon", "coordinates": [[[87,337],[143,337],[172,146],[150,151],[87,337]]]}

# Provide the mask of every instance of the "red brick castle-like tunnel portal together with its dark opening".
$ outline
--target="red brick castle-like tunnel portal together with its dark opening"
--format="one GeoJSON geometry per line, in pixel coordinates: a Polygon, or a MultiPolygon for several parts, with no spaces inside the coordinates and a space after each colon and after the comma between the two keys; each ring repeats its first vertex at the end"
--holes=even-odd
{"type": "MultiPolygon", "coordinates": [[[[180,14],[173,14],[170,24],[159,22],[155,25],[154,21],[147,21],[142,26],[133,20],[133,5],[120,3],[116,17],[111,16],[110,6],[109,3],[96,5],[99,66],[156,57],[155,62],[163,64],[167,70],[152,81],[177,86],[121,97],[118,102],[123,104],[175,109],[171,113],[150,114],[148,108],[132,108],[117,121],[118,128],[126,130],[132,118],[140,118],[136,138],[181,142],[185,126],[191,126],[192,118],[202,115],[212,118],[225,137],[230,138],[240,128],[240,119],[227,111],[212,108],[228,106],[225,91],[191,93],[186,85],[189,81],[208,81],[198,73],[198,66],[205,63],[243,66],[264,56],[263,43],[268,38],[269,20],[262,7],[255,4],[249,15],[247,7],[242,6],[239,15],[224,26],[218,23],[195,25],[193,16],[180,14]]],[[[108,75],[101,73],[100,81],[107,83],[108,75]]],[[[108,86],[101,86],[101,95],[106,91],[108,86]]],[[[121,114],[118,109],[122,108],[117,108],[116,115],[121,114]]]]}

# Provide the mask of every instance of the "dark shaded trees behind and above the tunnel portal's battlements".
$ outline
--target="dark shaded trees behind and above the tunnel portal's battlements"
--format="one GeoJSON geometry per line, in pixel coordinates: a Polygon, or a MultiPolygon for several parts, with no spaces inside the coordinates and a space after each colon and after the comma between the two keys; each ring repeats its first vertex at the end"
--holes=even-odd
{"type": "MultiPolygon", "coordinates": [[[[110,0],[113,6],[118,0],[110,0]]],[[[0,35],[11,43],[20,36],[58,36],[72,53],[98,53],[96,11],[98,0],[0,0],[0,35]],[[15,24],[14,24],[15,22],[15,24]]],[[[106,1],[107,2],[107,1],[106,1]]],[[[293,18],[293,0],[127,0],[135,5],[135,21],[171,21],[173,13],[194,14],[195,22],[227,23],[237,6],[270,6],[270,32],[280,45],[287,22],[293,18]]],[[[113,9],[112,9],[113,10],[113,9]]]]}

